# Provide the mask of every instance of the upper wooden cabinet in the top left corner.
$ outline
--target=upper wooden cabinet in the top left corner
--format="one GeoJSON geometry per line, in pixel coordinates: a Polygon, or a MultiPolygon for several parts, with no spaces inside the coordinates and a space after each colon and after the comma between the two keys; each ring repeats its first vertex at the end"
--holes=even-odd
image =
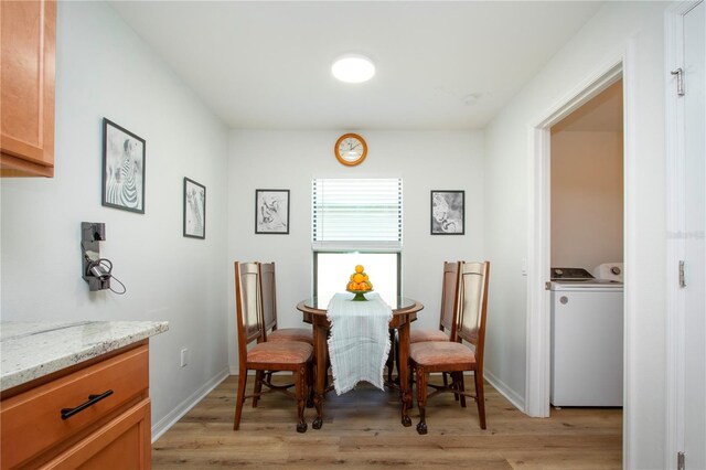
{"type": "Polygon", "coordinates": [[[0,1],[0,174],[54,175],[54,0],[0,1]]]}

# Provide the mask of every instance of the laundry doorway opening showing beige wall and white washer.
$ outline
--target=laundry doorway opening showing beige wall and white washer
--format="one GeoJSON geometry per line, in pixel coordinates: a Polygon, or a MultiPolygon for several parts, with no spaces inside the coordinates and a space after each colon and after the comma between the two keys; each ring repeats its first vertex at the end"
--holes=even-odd
{"type": "Polygon", "coordinates": [[[549,129],[550,413],[623,403],[622,122],[618,79],[549,129]]]}

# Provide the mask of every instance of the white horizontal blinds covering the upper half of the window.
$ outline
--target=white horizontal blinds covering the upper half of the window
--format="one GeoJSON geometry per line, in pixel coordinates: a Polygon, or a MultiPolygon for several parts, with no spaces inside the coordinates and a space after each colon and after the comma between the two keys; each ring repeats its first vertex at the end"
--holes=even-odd
{"type": "Polygon", "coordinates": [[[314,250],[402,250],[402,179],[314,179],[314,250]]]}

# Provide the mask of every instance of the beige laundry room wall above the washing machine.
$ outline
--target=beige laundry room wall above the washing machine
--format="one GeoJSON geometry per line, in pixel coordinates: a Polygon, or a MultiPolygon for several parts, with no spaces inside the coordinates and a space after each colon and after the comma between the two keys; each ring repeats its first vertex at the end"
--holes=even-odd
{"type": "Polygon", "coordinates": [[[552,266],[622,263],[622,132],[552,132],[552,266]]]}

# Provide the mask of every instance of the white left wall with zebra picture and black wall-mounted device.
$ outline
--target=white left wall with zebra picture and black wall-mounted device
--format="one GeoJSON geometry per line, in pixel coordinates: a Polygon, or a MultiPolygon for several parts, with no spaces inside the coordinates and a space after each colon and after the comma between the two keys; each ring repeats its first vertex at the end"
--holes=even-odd
{"type": "Polygon", "coordinates": [[[56,30],[55,178],[0,182],[2,320],[168,320],[150,342],[159,423],[227,370],[227,130],[106,3],[60,2],[56,30]],[[147,140],[143,215],[100,205],[103,117],[147,140]],[[184,177],[206,186],[205,241],[182,236],[184,177]],[[105,222],[125,296],[88,291],[82,221],[105,222]]]}

